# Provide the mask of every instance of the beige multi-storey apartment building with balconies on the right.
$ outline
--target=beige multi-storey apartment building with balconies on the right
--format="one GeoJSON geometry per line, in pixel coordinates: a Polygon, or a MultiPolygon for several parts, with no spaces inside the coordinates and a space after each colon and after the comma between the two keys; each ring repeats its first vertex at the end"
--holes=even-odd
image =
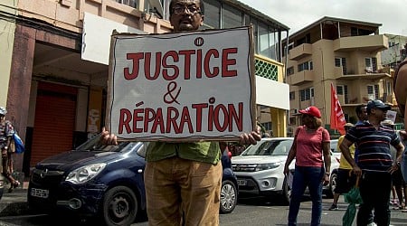
{"type": "MultiPolygon", "coordinates": [[[[300,123],[298,109],[314,105],[320,109],[325,127],[331,115],[331,83],[347,122],[355,123],[355,107],[369,99],[394,105],[392,74],[383,68],[381,54],[388,39],[379,33],[381,24],[323,17],[289,36],[287,83],[289,83],[289,127],[292,135],[300,123]]],[[[332,137],[336,131],[330,130],[332,137]]]]}

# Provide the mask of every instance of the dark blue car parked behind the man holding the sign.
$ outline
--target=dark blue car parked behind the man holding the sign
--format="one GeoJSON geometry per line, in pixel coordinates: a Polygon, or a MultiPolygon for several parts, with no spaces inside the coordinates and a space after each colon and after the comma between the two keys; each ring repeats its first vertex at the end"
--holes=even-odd
{"type": "MultiPolygon", "coordinates": [[[[27,201],[36,212],[93,217],[106,225],[129,225],[146,212],[144,186],[147,143],[102,146],[94,137],[74,150],[35,165],[27,201]]],[[[222,155],[221,212],[237,204],[237,179],[227,149],[222,155]]]]}

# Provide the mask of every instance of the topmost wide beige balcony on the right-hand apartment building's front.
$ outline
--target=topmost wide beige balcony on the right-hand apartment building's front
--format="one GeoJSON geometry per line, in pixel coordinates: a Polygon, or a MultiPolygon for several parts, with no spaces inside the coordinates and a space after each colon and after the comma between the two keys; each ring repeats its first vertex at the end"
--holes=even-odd
{"type": "Polygon", "coordinates": [[[383,34],[344,37],[334,41],[334,51],[380,52],[388,48],[388,39],[383,34]]]}

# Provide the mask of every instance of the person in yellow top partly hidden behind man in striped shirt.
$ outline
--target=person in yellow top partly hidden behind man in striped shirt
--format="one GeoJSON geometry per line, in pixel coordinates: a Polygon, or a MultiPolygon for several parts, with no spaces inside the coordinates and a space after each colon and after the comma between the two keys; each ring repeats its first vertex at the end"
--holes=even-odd
{"type": "MultiPolygon", "coordinates": [[[[345,132],[351,128],[354,127],[354,124],[352,123],[346,123],[345,124],[345,132]]],[[[338,138],[337,140],[337,148],[340,150],[339,146],[341,145],[342,141],[344,141],[345,135],[342,135],[341,137],[338,138]]],[[[355,156],[355,144],[349,147],[350,153],[352,157],[355,156]]],[[[352,174],[349,174],[352,171],[352,165],[350,165],[346,159],[345,156],[341,154],[340,162],[339,162],[339,168],[337,170],[336,174],[336,187],[335,187],[335,193],[334,193],[334,202],[332,203],[331,207],[329,207],[329,211],[336,211],[337,208],[337,201],[339,199],[339,195],[342,193],[348,193],[351,188],[355,185],[355,176],[352,174]]]]}

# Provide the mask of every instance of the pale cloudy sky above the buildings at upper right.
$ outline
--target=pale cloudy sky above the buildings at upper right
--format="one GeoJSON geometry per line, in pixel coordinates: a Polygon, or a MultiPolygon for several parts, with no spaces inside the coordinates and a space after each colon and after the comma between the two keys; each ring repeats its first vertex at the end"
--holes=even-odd
{"type": "Polygon", "coordinates": [[[407,36],[407,0],[239,0],[289,27],[289,34],[324,16],[382,24],[379,33],[407,36]]]}

